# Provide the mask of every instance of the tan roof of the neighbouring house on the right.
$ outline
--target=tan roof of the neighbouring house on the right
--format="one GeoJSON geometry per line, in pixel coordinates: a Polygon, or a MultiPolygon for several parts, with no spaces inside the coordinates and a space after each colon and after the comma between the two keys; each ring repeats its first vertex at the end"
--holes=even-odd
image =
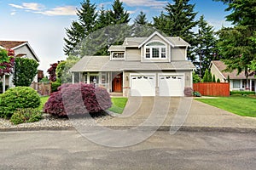
{"type": "MultiPolygon", "coordinates": [[[[212,60],[212,65],[215,65],[215,67],[218,69],[218,71],[220,71],[220,73],[223,75],[223,77],[225,79],[228,78],[228,76],[230,76],[230,79],[246,79],[247,77],[245,76],[245,72],[241,71],[241,73],[239,75],[237,75],[237,71],[231,71],[231,72],[227,72],[224,71],[227,68],[227,65],[224,64],[223,61],[221,60],[212,60]]],[[[249,79],[255,79],[255,77],[251,76],[248,77],[249,79]]]]}

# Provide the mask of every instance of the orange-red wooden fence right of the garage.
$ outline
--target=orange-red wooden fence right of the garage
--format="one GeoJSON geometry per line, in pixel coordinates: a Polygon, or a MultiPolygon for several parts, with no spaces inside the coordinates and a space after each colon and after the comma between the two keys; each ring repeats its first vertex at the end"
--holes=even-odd
{"type": "Polygon", "coordinates": [[[193,84],[194,91],[205,96],[230,96],[229,82],[200,82],[193,84]]]}

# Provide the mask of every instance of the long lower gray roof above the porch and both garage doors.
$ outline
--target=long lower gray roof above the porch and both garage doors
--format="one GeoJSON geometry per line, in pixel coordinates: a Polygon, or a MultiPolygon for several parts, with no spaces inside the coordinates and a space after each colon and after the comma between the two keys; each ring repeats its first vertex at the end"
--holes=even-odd
{"type": "Polygon", "coordinates": [[[174,71],[195,69],[190,61],[154,63],[141,61],[110,61],[109,56],[84,56],[70,69],[71,72],[85,71],[174,71]]]}

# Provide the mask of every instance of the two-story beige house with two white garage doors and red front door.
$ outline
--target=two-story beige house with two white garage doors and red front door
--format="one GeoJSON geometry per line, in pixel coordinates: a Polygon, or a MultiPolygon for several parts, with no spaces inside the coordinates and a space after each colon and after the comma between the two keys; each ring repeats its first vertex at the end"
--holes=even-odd
{"type": "Polygon", "coordinates": [[[180,37],[126,37],[110,56],[84,56],[71,68],[73,82],[96,83],[123,96],[183,96],[192,88],[195,66],[187,60],[189,43],[180,37]]]}

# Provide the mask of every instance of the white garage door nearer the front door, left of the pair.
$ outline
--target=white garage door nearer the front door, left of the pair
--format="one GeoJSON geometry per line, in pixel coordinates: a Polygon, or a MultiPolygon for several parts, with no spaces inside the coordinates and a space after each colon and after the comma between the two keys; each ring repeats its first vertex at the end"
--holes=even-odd
{"type": "Polygon", "coordinates": [[[154,96],[155,77],[154,76],[132,76],[131,96],[154,96]]]}

